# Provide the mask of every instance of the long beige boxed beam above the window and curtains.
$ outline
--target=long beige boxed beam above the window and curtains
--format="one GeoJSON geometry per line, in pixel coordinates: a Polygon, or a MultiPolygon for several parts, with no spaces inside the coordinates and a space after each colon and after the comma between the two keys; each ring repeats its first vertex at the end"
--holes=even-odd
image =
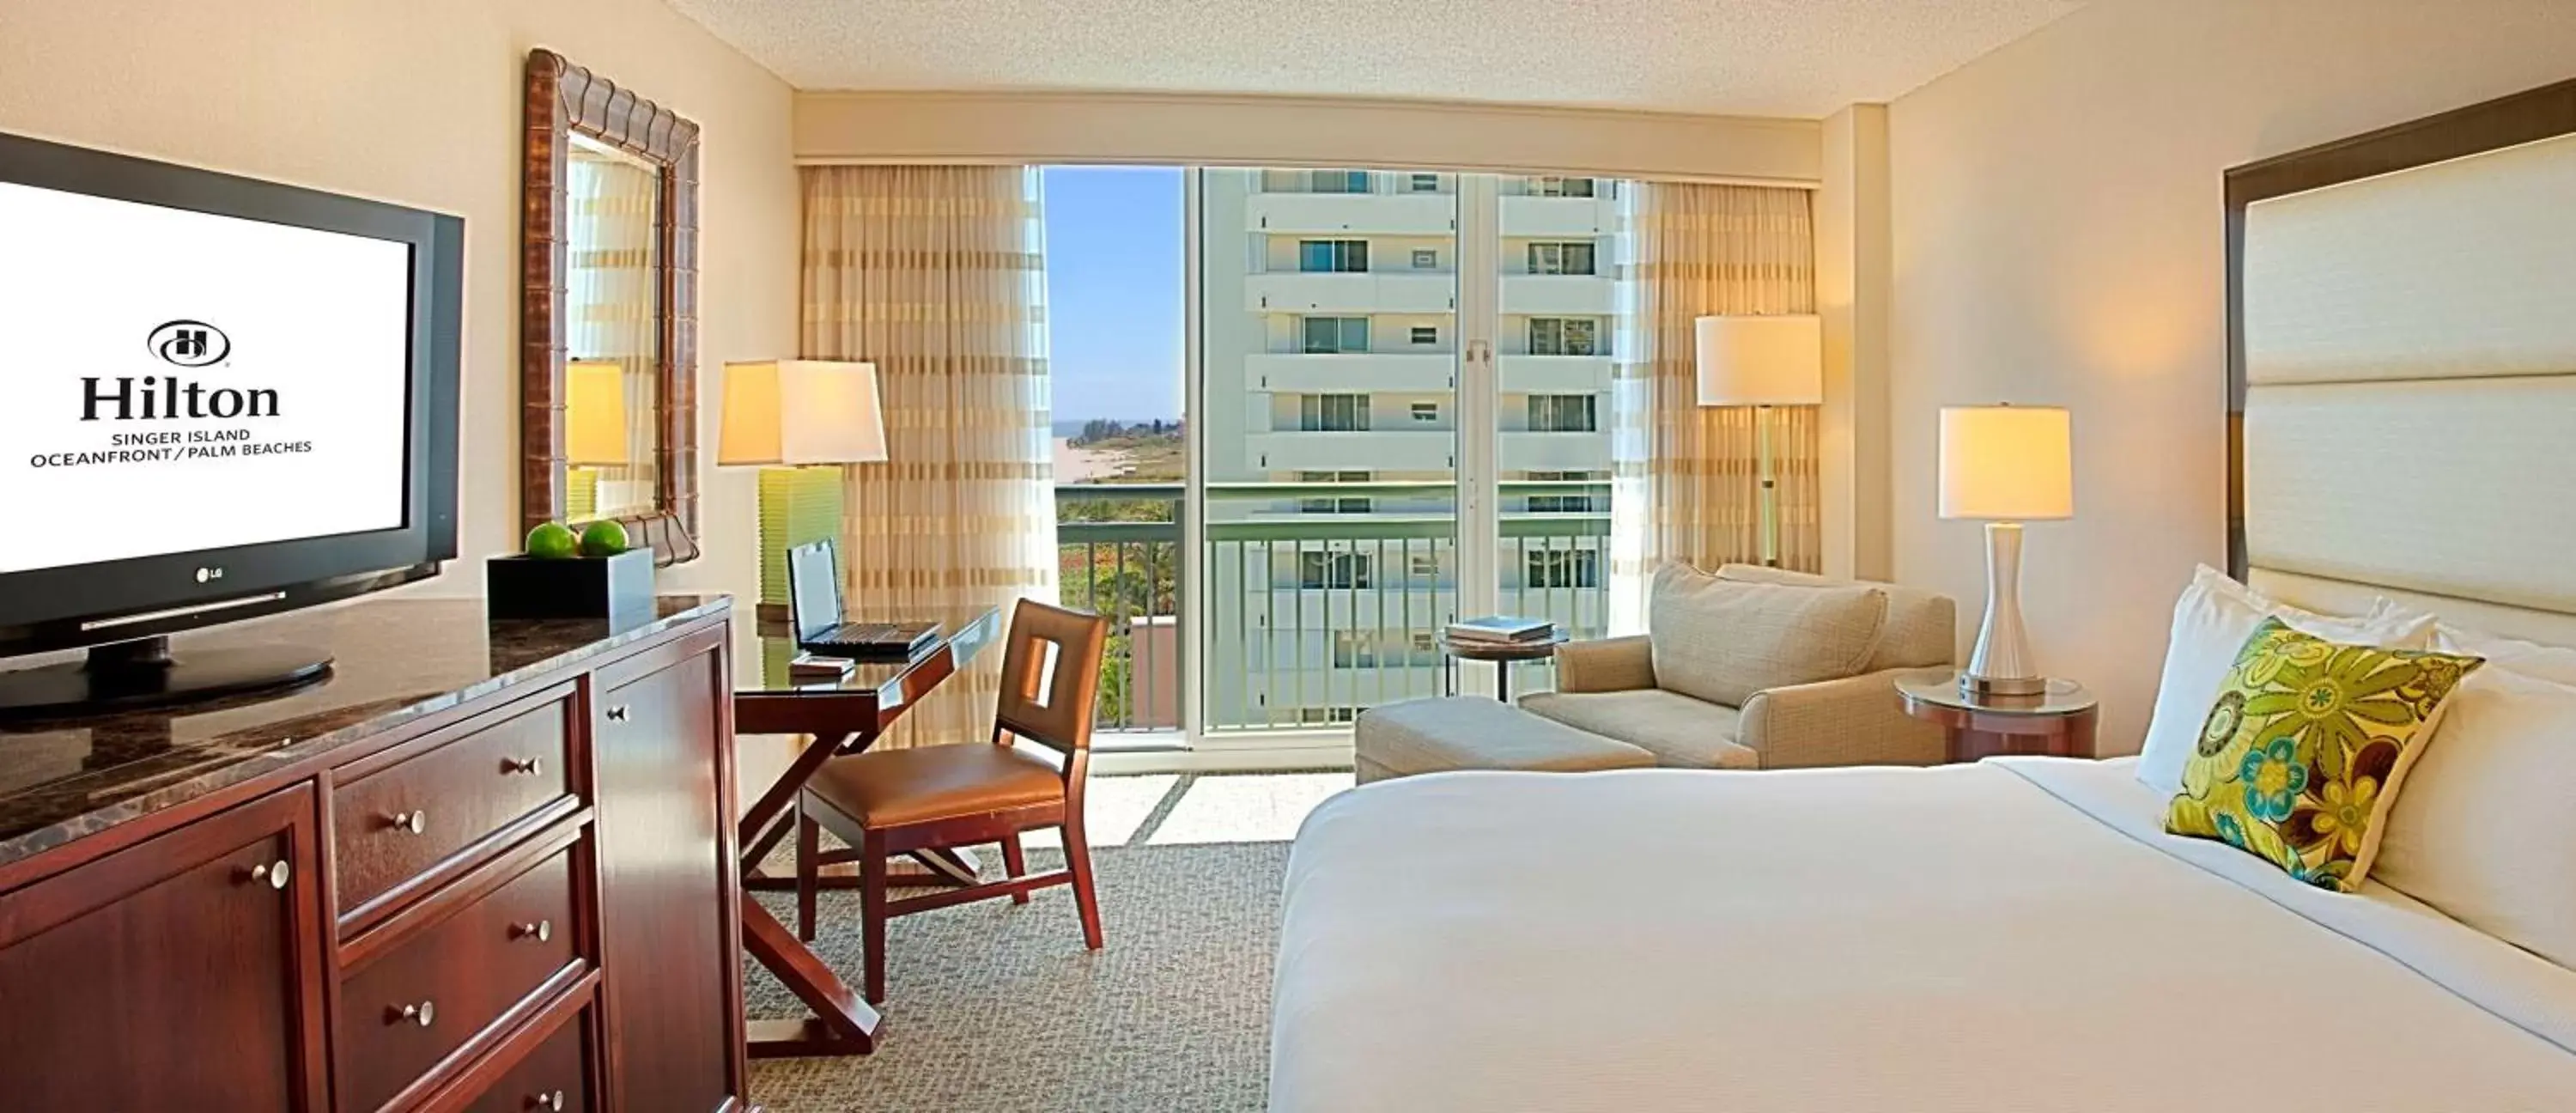
{"type": "Polygon", "coordinates": [[[796,157],[1564,170],[1814,183],[1819,124],[1422,100],[801,93],[796,157]]]}

